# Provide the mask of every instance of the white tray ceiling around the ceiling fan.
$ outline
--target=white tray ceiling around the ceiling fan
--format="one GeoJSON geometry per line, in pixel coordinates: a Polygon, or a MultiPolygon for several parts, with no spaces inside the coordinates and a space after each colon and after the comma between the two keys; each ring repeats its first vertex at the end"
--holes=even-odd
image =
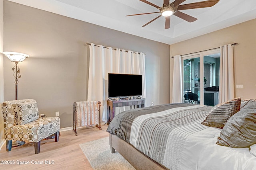
{"type": "MultiPolygon", "coordinates": [[[[256,0],[220,0],[209,8],[182,10],[198,18],[189,23],[171,16],[170,29],[164,29],[165,20],[161,16],[146,27],[145,23],[160,14],[130,16],[159,10],[139,0],[9,0],[70,18],[108,27],[139,37],[166,44],[173,44],[197,37],[218,29],[229,27],[256,18],[256,0]]],[[[163,0],[148,0],[162,6],[163,0]]],[[[173,2],[174,0],[170,0],[173,2]]],[[[186,0],[182,4],[203,0],[186,0]]]]}

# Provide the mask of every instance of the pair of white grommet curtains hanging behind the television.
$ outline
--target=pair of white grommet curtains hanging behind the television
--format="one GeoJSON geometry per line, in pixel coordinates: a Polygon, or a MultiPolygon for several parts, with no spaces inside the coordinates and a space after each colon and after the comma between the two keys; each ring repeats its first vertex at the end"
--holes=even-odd
{"type": "MultiPolygon", "coordinates": [[[[107,122],[108,73],[141,74],[142,98],[146,98],[145,54],[134,53],[122,49],[112,49],[102,45],[89,46],[89,80],[87,101],[102,103],[102,121],[107,122]],[[98,47],[99,46],[99,47],[98,47]]],[[[131,82],[132,83],[132,82],[131,82]]],[[[130,107],[128,107],[130,109],[130,107]]],[[[124,111],[124,107],[117,107],[115,114],[124,111]]]]}

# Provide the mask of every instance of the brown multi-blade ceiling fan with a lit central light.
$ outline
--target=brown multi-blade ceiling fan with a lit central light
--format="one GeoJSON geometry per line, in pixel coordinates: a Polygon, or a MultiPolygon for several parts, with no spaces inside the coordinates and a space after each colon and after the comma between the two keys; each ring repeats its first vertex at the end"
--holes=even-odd
{"type": "MultiPolygon", "coordinates": [[[[189,9],[196,9],[196,8],[211,7],[211,6],[214,6],[215,4],[217,4],[217,2],[219,2],[219,0],[206,0],[206,1],[202,1],[202,2],[195,2],[195,3],[191,3],[191,4],[180,5],[182,2],[184,2],[186,0],[175,0],[172,3],[170,3],[170,0],[164,0],[163,6],[160,7],[160,6],[157,6],[155,4],[152,4],[151,2],[148,2],[147,0],[140,0],[140,1],[142,1],[146,4],[149,4],[151,6],[154,6],[160,11],[159,12],[144,13],[144,14],[133,14],[133,15],[128,15],[128,16],[138,16],[138,15],[145,15],[145,14],[161,13],[160,16],[165,17],[165,27],[164,27],[165,29],[170,28],[170,20],[171,20],[171,15],[172,14],[181,18],[181,19],[183,19],[183,20],[186,20],[188,22],[194,22],[194,21],[197,20],[197,18],[194,18],[190,15],[187,15],[183,12],[180,12],[180,10],[189,10],[189,9]]],[[[160,16],[158,16],[158,17],[154,18],[153,20],[149,21],[148,23],[146,23],[142,27],[145,27],[146,25],[150,24],[154,20],[160,18],[160,16]]]]}

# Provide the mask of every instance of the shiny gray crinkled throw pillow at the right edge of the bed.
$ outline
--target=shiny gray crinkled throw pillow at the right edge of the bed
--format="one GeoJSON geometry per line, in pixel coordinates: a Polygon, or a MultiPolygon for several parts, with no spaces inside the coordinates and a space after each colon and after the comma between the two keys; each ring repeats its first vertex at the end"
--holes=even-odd
{"type": "Polygon", "coordinates": [[[241,109],[230,117],[216,144],[232,148],[256,144],[256,106],[241,109]]]}

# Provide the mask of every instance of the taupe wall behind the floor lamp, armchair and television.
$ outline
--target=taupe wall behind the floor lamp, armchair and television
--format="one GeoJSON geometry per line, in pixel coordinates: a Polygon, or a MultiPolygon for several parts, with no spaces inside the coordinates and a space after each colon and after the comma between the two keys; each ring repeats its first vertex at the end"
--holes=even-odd
{"type": "MultiPolygon", "coordinates": [[[[85,43],[146,53],[147,103],[170,102],[167,44],[9,1],[4,1],[4,30],[4,51],[30,55],[20,63],[18,99],[36,99],[48,117],[59,111],[61,128],[73,125],[73,103],[87,99],[85,43]]],[[[4,100],[15,97],[13,66],[4,57],[4,100]]]]}

